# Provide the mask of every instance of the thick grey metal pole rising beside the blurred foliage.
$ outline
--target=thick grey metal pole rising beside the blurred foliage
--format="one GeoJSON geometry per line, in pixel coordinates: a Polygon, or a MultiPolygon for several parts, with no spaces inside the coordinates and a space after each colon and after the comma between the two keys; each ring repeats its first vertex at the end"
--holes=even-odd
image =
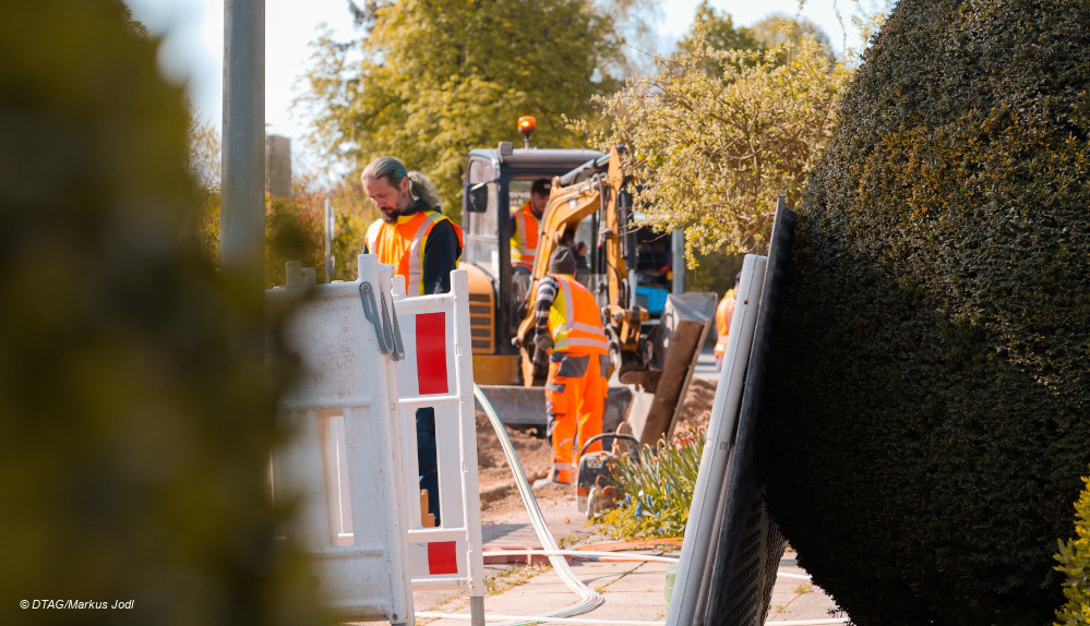
{"type": "Polygon", "coordinates": [[[265,0],[224,0],[219,263],[261,290],[265,274],[265,0]]]}

